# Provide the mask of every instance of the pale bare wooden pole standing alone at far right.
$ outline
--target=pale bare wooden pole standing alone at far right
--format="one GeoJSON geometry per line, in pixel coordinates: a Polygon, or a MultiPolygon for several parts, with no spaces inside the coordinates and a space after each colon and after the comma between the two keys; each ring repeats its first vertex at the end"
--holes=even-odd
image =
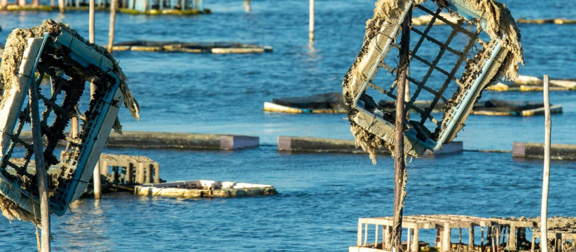
{"type": "Polygon", "coordinates": [[[548,252],[548,183],[550,183],[550,134],[552,131],[549,77],[544,75],[544,172],[542,176],[542,207],[540,215],[540,249],[542,252],[548,252]]]}

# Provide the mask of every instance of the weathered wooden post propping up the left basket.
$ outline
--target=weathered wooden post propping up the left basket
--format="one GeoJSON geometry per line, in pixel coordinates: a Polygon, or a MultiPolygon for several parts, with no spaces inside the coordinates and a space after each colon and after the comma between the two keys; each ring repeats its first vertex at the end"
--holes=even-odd
{"type": "MultiPolygon", "coordinates": [[[[33,76],[33,75],[32,75],[33,76]]],[[[40,112],[38,111],[38,92],[36,82],[32,80],[29,90],[30,117],[32,124],[32,142],[34,148],[34,161],[36,162],[36,181],[40,197],[40,226],[42,229],[41,250],[50,251],[50,202],[48,201],[48,179],[44,164],[44,151],[42,132],[40,130],[40,112]]]]}

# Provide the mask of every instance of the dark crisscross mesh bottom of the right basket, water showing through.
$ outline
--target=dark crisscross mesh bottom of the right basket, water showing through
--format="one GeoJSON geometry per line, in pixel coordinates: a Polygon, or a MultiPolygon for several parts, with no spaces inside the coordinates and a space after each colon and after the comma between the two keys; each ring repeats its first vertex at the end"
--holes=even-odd
{"type": "MultiPolygon", "coordinates": [[[[411,113],[410,125],[421,137],[437,140],[442,126],[442,113],[457,88],[462,86],[460,78],[465,64],[473,59],[480,48],[487,46],[489,37],[480,26],[467,26],[465,20],[453,20],[442,15],[442,8],[431,11],[424,5],[414,5],[414,13],[431,15],[426,26],[411,26],[410,46],[410,100],[407,100],[407,113],[411,113]],[[438,23],[442,24],[439,25],[438,23]],[[422,27],[424,29],[422,29],[422,27]],[[458,48],[458,49],[457,49],[458,48]],[[429,102],[422,103],[421,99],[429,102]],[[425,105],[422,105],[425,104],[425,105]]],[[[408,18],[408,17],[407,17],[408,18]]],[[[400,33],[400,32],[399,32],[400,33]]],[[[393,39],[388,55],[399,55],[400,36],[393,39]]],[[[385,57],[379,67],[386,69],[388,75],[375,75],[369,80],[369,87],[362,100],[381,111],[386,101],[396,100],[396,80],[391,81],[391,75],[396,75],[397,57],[385,57]],[[386,83],[391,83],[386,85],[386,83]],[[372,90],[370,90],[372,89],[372,90]],[[374,97],[385,97],[378,104],[374,97]],[[371,96],[367,98],[366,96],[371,96]]],[[[390,104],[390,103],[388,103],[390,104]]],[[[384,112],[384,119],[393,123],[394,111],[384,112]]]]}

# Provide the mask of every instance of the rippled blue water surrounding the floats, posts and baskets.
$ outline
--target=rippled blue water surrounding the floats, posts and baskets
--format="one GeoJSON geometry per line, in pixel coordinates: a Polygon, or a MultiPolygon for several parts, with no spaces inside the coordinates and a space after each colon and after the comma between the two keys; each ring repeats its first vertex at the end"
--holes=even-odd
{"type": "MultiPolygon", "coordinates": [[[[514,17],[576,19],[574,1],[503,1],[514,17]]],[[[272,184],[270,197],[183,200],[124,193],[77,201],[52,217],[55,250],[347,250],[357,219],[392,214],[392,159],[365,154],[276,152],[279,135],[347,138],[345,115],[264,113],[279,96],[339,92],[362,44],[372,1],[316,1],[316,42],[308,44],[308,1],[207,1],[211,15],[118,14],[116,41],[239,41],[274,46],[249,55],[116,52],[141,104],[141,121],[120,113],[124,130],[257,135],[257,149],[234,152],[107,149],[160,163],[163,179],[272,184]]],[[[88,34],[88,14],[1,12],[0,40],[12,28],[63,21],[88,34]]],[[[576,77],[576,25],[524,25],[523,75],[576,77]]],[[[96,42],[105,44],[108,13],[96,13],[96,42]]],[[[541,100],[540,92],[484,92],[483,99],[541,100]]],[[[552,117],[553,143],[576,144],[576,95],[552,92],[564,108],[552,117]]],[[[510,150],[514,141],[543,141],[543,117],[471,116],[458,134],[465,149],[510,150]]],[[[576,215],[574,162],[554,161],[550,215],[576,215]]],[[[541,160],[510,153],[465,152],[412,160],[405,214],[535,216],[541,160]]],[[[35,250],[32,224],[0,219],[0,250],[35,250]]],[[[433,234],[420,234],[433,240],[433,234]]]]}

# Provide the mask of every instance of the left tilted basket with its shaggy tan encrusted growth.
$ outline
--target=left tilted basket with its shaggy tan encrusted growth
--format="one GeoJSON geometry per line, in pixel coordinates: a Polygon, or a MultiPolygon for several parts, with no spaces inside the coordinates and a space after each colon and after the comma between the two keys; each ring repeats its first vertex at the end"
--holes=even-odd
{"type": "Polygon", "coordinates": [[[127,78],[106,49],[89,43],[68,25],[52,20],[44,21],[42,25],[31,29],[14,29],[10,33],[0,64],[0,209],[10,220],[28,220],[35,224],[38,223],[40,213],[36,211],[39,210],[37,201],[32,198],[37,197],[38,191],[35,172],[28,169],[29,160],[35,153],[31,144],[22,141],[18,135],[24,124],[29,123],[29,107],[21,107],[22,104],[27,104],[24,101],[28,92],[27,80],[29,76],[34,77],[33,74],[26,76],[30,74],[27,71],[32,69],[29,66],[33,64],[33,60],[29,59],[36,58],[36,55],[27,51],[31,45],[29,39],[41,38],[45,34],[48,34],[48,42],[41,52],[40,63],[36,68],[39,80],[44,74],[50,76],[52,88],[51,95],[39,94],[39,101],[43,102],[46,108],[41,114],[41,133],[47,143],[43,155],[46,169],[55,164],[63,167],[58,178],[58,191],[50,195],[51,211],[58,215],[63,214],[67,203],[75,200],[79,196],[78,192],[86,188],[92,169],[82,167],[84,172],[79,173],[77,168],[79,163],[86,166],[95,163],[94,158],[100,155],[103,148],[100,143],[105,142],[111,127],[120,131],[121,126],[116,117],[120,104],[116,103],[123,100],[132,116],[139,119],[139,106],[127,86],[127,78]],[[73,48],[82,52],[74,52],[73,48]],[[109,67],[104,69],[104,65],[109,67]],[[92,98],[88,98],[88,111],[77,115],[75,107],[89,82],[95,84],[96,92],[92,98]],[[62,93],[63,97],[58,98],[62,93]],[[106,107],[111,108],[108,110],[106,107]],[[64,130],[74,116],[83,121],[79,137],[66,138],[64,130]],[[66,140],[73,146],[71,154],[65,160],[59,160],[56,157],[59,155],[53,153],[56,143],[61,140],[66,140]],[[92,144],[88,144],[89,142],[92,144]],[[24,165],[9,161],[16,145],[26,149],[24,165]],[[15,172],[9,172],[8,168],[15,172]]]}

